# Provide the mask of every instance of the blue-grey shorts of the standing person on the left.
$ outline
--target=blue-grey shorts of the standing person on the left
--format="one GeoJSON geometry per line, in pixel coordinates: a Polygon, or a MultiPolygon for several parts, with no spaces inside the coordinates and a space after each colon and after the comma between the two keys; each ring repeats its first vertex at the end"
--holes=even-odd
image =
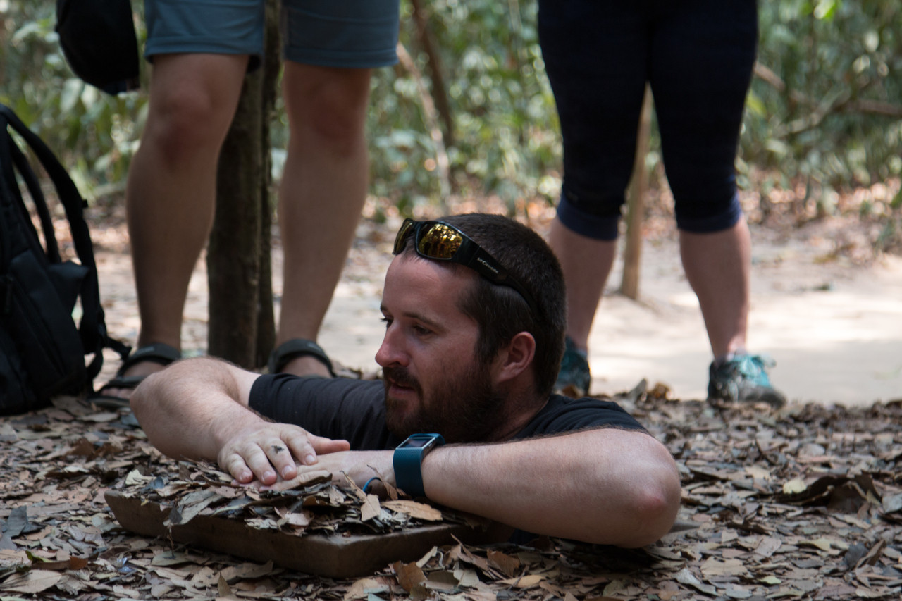
{"type": "MultiPolygon", "coordinates": [[[[146,0],[144,56],[263,53],[262,0],[146,0]]],[[[375,68],[398,61],[399,0],[281,0],[285,60],[375,68]]]]}

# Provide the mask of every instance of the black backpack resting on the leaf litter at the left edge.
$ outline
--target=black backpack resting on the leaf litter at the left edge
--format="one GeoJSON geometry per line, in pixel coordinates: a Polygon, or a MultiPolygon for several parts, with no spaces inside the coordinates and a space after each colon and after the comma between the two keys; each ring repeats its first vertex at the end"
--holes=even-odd
{"type": "Polygon", "coordinates": [[[104,347],[128,355],[128,347],[106,335],[85,206],[47,145],[12,109],[0,105],[0,414],[39,409],[58,394],[93,391],[104,347]],[[31,147],[50,176],[69,219],[78,263],[61,260],[40,183],[11,129],[31,147]],[[20,179],[40,221],[43,245],[19,188],[20,179]],[[78,326],[73,318],[77,301],[78,326]],[[85,365],[87,355],[93,358],[85,365]]]}

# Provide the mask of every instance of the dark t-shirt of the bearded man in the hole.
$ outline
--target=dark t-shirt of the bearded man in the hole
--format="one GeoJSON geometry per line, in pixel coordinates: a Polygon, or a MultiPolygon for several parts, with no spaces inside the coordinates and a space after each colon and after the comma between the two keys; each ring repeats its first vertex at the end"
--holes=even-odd
{"type": "MultiPolygon", "coordinates": [[[[345,439],[353,450],[385,450],[401,443],[385,427],[385,389],[378,380],[262,375],[251,388],[250,406],[318,436],[345,439]]],[[[644,430],[615,402],[553,394],[514,438],[592,428],[644,430]]]]}

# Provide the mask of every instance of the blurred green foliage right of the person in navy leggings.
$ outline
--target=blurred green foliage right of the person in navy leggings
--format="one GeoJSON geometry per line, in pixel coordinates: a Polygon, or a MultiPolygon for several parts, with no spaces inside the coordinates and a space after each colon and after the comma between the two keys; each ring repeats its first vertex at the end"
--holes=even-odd
{"type": "Polygon", "coordinates": [[[741,156],[833,190],[902,173],[902,5],[783,0],[760,5],[759,62],[779,80],[752,84],[741,156]],[[780,84],[782,83],[782,88],[780,84]],[[896,111],[895,116],[891,114],[896,111]]]}

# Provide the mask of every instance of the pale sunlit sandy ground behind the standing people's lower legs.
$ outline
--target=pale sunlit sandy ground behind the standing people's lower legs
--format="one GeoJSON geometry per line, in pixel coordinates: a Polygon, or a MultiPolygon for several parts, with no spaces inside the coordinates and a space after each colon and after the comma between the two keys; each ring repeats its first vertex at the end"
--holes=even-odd
{"type": "MultiPolygon", "coordinates": [[[[361,225],[319,337],[330,356],[364,371],[377,369],[379,299],[394,227],[361,225]]],[[[752,229],[750,350],[777,362],[772,380],[791,402],[902,399],[902,258],[852,262],[835,253],[838,231],[819,227],[781,236],[752,229]]],[[[278,247],[273,254],[278,274],[278,247]]],[[[101,246],[97,263],[108,327],[113,336],[133,341],[140,324],[128,255],[101,246]]],[[[620,282],[618,262],[590,341],[592,393],[618,393],[645,378],[669,386],[674,398],[704,398],[711,351],[676,237],[658,236],[643,246],[639,301],[618,294],[620,282]]],[[[281,278],[275,277],[273,289],[278,296],[281,278]]],[[[206,340],[201,261],[185,309],[183,345],[203,353],[206,340]]],[[[115,371],[115,355],[107,357],[100,383],[115,371]]]]}

